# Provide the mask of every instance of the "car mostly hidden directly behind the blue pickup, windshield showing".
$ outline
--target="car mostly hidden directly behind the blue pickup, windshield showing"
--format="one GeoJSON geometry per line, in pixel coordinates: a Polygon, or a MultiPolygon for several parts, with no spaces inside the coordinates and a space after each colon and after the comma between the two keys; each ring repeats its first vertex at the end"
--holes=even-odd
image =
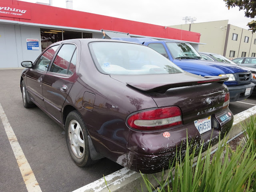
{"type": "MultiPolygon", "coordinates": [[[[229,60],[228,58],[226,58],[226,57],[224,57],[220,54],[208,53],[208,52],[198,52],[198,53],[205,60],[212,60],[212,61],[218,61],[218,62],[224,62],[224,63],[230,63],[230,64],[238,65],[235,62],[233,62],[232,60],[229,60]]],[[[255,76],[256,75],[256,68],[251,68],[251,67],[246,67],[246,68],[251,71],[251,73],[252,73],[252,83],[254,83],[256,85],[256,76],[255,76]]],[[[256,86],[254,86],[254,89],[252,91],[252,95],[256,95],[256,86]]]]}

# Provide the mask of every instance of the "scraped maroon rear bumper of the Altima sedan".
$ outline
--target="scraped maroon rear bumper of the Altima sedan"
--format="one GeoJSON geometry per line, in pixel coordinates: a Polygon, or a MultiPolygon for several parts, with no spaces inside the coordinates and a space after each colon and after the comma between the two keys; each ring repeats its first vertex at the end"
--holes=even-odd
{"type": "Polygon", "coordinates": [[[209,142],[211,144],[218,142],[219,133],[221,138],[224,137],[232,127],[234,120],[233,114],[228,108],[212,115],[213,118],[218,121],[218,128],[212,128],[211,131],[201,135],[194,122],[154,133],[131,130],[127,149],[128,168],[146,174],[160,172],[163,168],[168,169],[169,161],[172,163],[176,156],[176,147],[178,150],[181,148],[182,156],[185,155],[187,132],[189,144],[199,148],[204,140],[203,150],[206,150],[209,142]],[[228,115],[228,119],[222,122],[220,118],[225,115],[228,115]],[[162,136],[166,131],[170,133],[169,138],[162,136]]]}

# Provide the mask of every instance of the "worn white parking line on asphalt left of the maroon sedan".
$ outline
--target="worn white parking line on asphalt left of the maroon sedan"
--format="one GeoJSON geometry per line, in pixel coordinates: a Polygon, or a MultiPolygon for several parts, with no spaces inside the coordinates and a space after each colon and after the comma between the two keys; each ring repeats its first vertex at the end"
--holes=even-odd
{"type": "Polygon", "coordinates": [[[42,192],[38,182],[36,181],[36,177],[28,164],[28,161],[20,147],[20,144],[12,130],[12,127],[4,113],[2,105],[0,104],[0,118],[4,125],[5,132],[8,136],[10,145],[12,147],[12,151],[14,152],[15,158],[17,160],[18,166],[20,168],[20,172],[22,174],[23,180],[26,184],[26,188],[28,192],[42,192]]]}

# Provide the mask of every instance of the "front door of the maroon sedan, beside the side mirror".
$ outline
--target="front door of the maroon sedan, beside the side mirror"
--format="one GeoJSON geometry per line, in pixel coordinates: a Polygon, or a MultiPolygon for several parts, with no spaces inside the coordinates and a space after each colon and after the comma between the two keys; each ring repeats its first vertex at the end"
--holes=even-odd
{"type": "Polygon", "coordinates": [[[42,94],[42,81],[46,70],[59,45],[52,46],[44,51],[34,63],[34,67],[26,72],[27,90],[32,101],[45,109],[42,94]]]}

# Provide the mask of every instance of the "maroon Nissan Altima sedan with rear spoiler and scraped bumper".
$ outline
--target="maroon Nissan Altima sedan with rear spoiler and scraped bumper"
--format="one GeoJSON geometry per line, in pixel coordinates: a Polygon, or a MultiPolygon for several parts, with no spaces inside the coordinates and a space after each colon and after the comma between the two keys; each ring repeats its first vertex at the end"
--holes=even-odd
{"type": "Polygon", "coordinates": [[[142,173],[168,168],[176,146],[218,142],[233,123],[226,77],[183,71],[153,49],[102,39],[50,45],[22,62],[25,108],[66,130],[78,166],[106,157],[142,173]]]}

